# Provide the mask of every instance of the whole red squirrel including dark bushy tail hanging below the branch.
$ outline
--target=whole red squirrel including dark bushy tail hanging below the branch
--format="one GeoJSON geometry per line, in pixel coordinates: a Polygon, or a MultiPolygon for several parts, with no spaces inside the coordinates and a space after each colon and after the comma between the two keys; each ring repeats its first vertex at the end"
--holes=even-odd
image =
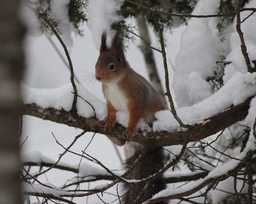
{"type": "MultiPolygon", "coordinates": [[[[95,66],[95,78],[102,83],[102,91],[108,106],[108,116],[105,118],[104,125],[105,132],[115,127],[116,112],[127,110],[129,113],[127,140],[132,140],[140,118],[143,117],[147,122],[151,122],[154,120],[154,113],[166,109],[165,99],[157,93],[145,78],[129,67],[124,56],[123,43],[119,32],[113,38],[110,48],[106,44],[106,34],[102,34],[99,58],[95,66]]],[[[118,146],[123,146],[126,141],[117,137],[109,138],[118,146]]],[[[132,170],[126,178],[138,180],[148,178],[164,166],[163,161],[162,147],[139,146],[138,148],[137,146],[135,154],[127,159],[126,167],[127,169],[132,167],[132,170]],[[140,159],[138,159],[139,157],[140,159]],[[135,162],[136,165],[132,165],[135,162]]],[[[165,189],[162,177],[159,177],[154,179],[151,186],[138,197],[138,193],[143,190],[145,184],[145,182],[124,184],[126,191],[123,198],[124,204],[143,203],[157,192],[165,189]]]]}

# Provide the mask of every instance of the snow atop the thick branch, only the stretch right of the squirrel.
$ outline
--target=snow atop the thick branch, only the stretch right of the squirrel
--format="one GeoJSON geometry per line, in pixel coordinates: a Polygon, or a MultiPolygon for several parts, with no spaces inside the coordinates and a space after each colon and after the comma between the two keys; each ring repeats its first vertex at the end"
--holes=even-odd
{"type": "MultiPolygon", "coordinates": [[[[222,112],[231,105],[238,105],[250,96],[256,94],[256,73],[236,72],[230,80],[225,83],[211,97],[197,102],[189,107],[176,109],[178,116],[185,124],[195,124],[203,119],[209,118],[222,112]]],[[[178,129],[178,122],[173,118],[169,110],[155,113],[157,121],[153,124],[154,131],[171,131],[178,129]]]]}

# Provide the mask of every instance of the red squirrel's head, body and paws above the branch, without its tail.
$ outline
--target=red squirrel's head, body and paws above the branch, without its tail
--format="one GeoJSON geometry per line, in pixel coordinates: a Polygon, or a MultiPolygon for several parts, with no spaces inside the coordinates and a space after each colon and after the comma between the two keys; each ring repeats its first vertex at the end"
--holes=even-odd
{"type": "MultiPolygon", "coordinates": [[[[102,83],[102,91],[108,106],[105,132],[114,128],[116,112],[127,110],[129,112],[127,140],[132,140],[140,118],[143,117],[150,122],[154,118],[154,113],[165,109],[164,99],[153,86],[129,67],[118,32],[113,38],[111,48],[106,44],[106,34],[102,34],[99,58],[95,68],[95,77],[102,83]]],[[[118,138],[113,142],[122,146],[125,140],[118,138]]]]}

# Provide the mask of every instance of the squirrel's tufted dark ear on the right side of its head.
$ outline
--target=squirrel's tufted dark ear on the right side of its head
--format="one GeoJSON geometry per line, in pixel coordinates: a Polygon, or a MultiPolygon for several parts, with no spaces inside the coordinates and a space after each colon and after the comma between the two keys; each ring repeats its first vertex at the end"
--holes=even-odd
{"type": "Polygon", "coordinates": [[[116,56],[118,61],[124,61],[124,50],[123,50],[123,42],[120,37],[120,33],[117,31],[116,35],[113,39],[112,46],[110,48],[110,52],[113,53],[114,56],[116,56]]]}

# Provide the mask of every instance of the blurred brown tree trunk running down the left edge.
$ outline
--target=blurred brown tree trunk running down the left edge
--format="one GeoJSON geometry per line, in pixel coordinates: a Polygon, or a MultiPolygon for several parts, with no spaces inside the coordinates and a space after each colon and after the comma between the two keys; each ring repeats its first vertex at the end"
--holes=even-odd
{"type": "Polygon", "coordinates": [[[21,203],[19,116],[24,29],[19,0],[0,1],[0,203],[21,203]]]}

